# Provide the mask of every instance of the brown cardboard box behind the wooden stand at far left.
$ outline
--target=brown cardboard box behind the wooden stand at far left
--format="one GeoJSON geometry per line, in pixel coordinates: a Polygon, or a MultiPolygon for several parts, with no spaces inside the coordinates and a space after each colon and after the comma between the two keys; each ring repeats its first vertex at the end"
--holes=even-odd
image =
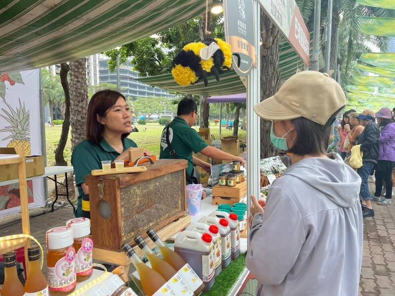
{"type": "MultiPolygon", "coordinates": [[[[14,148],[0,148],[0,154],[16,154],[14,148]]],[[[26,156],[26,178],[45,174],[44,156],[26,156]]],[[[7,164],[0,170],[0,182],[18,179],[18,164],[7,164]]]]}

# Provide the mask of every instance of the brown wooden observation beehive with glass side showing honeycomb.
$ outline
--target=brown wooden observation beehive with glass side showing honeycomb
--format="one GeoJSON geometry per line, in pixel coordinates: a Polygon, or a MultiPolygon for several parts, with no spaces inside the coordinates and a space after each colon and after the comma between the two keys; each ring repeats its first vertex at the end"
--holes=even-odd
{"type": "Polygon", "coordinates": [[[95,247],[118,251],[152,227],[158,230],[186,213],[186,160],[160,159],[146,172],[87,176],[95,247]]]}

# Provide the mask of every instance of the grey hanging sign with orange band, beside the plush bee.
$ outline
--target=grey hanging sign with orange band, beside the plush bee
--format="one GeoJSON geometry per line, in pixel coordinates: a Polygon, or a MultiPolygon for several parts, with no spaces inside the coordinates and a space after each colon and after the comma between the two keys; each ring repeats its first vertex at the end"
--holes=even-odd
{"type": "Polygon", "coordinates": [[[240,56],[233,58],[233,69],[240,76],[247,76],[255,64],[255,30],[252,0],[224,0],[225,38],[232,52],[240,56]]]}

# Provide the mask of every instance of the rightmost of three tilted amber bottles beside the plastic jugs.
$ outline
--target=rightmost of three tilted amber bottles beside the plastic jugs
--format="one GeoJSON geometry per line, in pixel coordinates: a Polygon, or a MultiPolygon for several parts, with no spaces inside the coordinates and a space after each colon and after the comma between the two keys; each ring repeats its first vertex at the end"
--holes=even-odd
{"type": "MultiPolygon", "coordinates": [[[[159,252],[160,254],[162,254],[163,259],[171,266],[173,266],[173,268],[176,271],[180,271],[187,264],[187,261],[185,261],[185,259],[182,258],[181,255],[177,254],[173,250],[166,247],[166,245],[161,241],[161,239],[158,237],[158,234],[154,231],[154,229],[152,228],[148,229],[147,234],[151,238],[151,240],[155,243],[155,245],[158,247],[159,252]]],[[[183,276],[184,273],[179,272],[179,274],[183,276]]],[[[184,280],[190,286],[190,288],[193,289],[195,295],[199,295],[205,288],[204,283],[200,279],[198,281],[201,284],[198,287],[194,287],[192,284],[192,283],[196,283],[197,279],[193,279],[191,277],[189,278],[185,277],[184,280]]]]}

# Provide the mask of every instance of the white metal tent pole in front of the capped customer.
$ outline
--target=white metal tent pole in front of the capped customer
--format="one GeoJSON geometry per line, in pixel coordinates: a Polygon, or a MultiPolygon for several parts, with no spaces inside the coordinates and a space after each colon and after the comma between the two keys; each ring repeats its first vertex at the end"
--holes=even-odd
{"type": "MultiPolygon", "coordinates": [[[[254,105],[260,102],[260,83],[261,83],[261,50],[260,42],[260,13],[261,6],[258,0],[254,0],[254,27],[255,27],[255,55],[257,56],[256,68],[252,67],[247,76],[247,216],[250,215],[251,200],[249,196],[254,194],[260,196],[260,120],[254,112],[254,105]]],[[[248,248],[247,241],[247,248],[248,248]]]]}

